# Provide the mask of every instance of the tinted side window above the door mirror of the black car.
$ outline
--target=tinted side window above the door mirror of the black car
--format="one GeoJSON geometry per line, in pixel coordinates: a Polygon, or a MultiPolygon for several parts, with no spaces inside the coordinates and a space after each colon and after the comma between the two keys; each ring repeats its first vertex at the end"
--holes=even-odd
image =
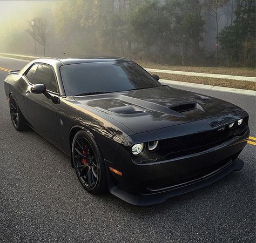
{"type": "Polygon", "coordinates": [[[32,84],[44,84],[47,90],[58,93],[54,72],[48,65],[38,64],[32,84]]]}

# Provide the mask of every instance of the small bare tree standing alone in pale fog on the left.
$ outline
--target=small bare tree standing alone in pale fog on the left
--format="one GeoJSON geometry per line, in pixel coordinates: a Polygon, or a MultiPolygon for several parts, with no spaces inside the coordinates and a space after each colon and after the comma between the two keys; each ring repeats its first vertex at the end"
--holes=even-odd
{"type": "Polygon", "coordinates": [[[49,36],[49,31],[45,19],[43,18],[34,18],[29,23],[30,29],[28,30],[30,35],[38,43],[42,44],[44,47],[44,56],[45,56],[45,43],[46,39],[49,36]]]}

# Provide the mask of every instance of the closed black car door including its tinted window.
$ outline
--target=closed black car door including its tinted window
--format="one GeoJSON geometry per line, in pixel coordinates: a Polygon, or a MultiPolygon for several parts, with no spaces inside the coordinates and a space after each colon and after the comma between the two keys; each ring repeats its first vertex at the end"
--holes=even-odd
{"type": "Polygon", "coordinates": [[[57,106],[43,94],[30,92],[33,84],[44,84],[51,96],[59,97],[55,71],[50,65],[36,63],[24,73],[28,87],[24,96],[26,113],[30,125],[43,137],[56,146],[60,146],[57,130],[57,106]]]}

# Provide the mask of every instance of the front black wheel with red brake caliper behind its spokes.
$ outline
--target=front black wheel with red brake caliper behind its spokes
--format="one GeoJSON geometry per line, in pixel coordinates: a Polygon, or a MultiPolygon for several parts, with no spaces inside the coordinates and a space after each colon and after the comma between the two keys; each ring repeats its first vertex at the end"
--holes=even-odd
{"type": "Polygon", "coordinates": [[[102,194],[107,191],[105,162],[93,134],[78,131],[71,151],[78,180],[87,192],[102,194]]]}

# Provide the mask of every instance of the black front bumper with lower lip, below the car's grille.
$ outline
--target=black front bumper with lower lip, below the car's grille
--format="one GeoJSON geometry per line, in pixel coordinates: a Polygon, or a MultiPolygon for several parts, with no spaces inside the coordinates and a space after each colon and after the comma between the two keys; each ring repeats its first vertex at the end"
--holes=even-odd
{"type": "Polygon", "coordinates": [[[120,168],[123,176],[109,173],[109,190],[127,203],[146,206],[210,185],[241,170],[244,162],[237,157],[247,144],[249,133],[247,130],[242,136],[200,153],[160,163],[124,166],[120,168]]]}

